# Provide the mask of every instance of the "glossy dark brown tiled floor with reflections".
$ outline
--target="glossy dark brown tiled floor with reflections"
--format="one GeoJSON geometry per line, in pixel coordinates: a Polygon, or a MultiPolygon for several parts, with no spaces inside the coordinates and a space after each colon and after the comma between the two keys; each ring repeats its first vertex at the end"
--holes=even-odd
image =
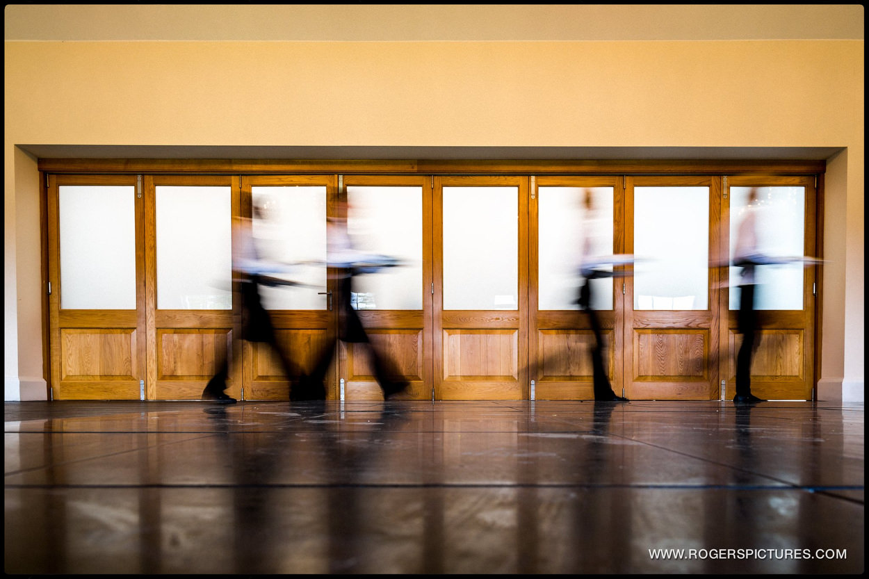
{"type": "Polygon", "coordinates": [[[863,436],[842,403],[5,403],[5,570],[857,573],[863,436]]]}

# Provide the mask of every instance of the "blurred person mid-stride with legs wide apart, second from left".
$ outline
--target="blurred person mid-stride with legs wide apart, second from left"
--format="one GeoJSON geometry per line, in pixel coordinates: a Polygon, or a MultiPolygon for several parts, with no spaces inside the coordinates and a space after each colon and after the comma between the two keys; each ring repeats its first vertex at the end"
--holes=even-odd
{"type": "MultiPolygon", "coordinates": [[[[395,361],[371,343],[368,332],[365,331],[362,320],[353,307],[351,300],[353,278],[362,273],[378,270],[381,265],[373,263],[370,259],[372,256],[355,250],[347,230],[347,209],[347,202],[340,202],[338,207],[340,216],[328,217],[327,222],[327,266],[335,272],[334,275],[340,286],[338,291],[338,335],[331,343],[324,345],[316,357],[314,369],[307,376],[302,376],[301,383],[308,390],[324,390],[323,383],[335,356],[336,341],[341,340],[344,343],[360,344],[368,350],[375,379],[381,387],[383,398],[388,399],[407,389],[409,383],[401,375],[395,361]]],[[[386,267],[391,264],[394,262],[385,259],[382,266],[386,267]]]]}

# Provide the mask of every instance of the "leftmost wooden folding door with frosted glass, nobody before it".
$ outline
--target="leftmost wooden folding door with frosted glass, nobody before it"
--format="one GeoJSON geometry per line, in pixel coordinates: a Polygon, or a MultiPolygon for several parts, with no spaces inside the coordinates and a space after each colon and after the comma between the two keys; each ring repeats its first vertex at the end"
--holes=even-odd
{"type": "Polygon", "coordinates": [[[47,176],[54,400],[145,396],[142,185],[47,176]]]}

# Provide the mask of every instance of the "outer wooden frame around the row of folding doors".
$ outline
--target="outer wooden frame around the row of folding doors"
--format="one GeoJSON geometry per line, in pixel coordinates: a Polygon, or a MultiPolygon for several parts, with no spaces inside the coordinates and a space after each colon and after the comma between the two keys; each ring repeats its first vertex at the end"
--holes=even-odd
{"type": "MultiPolygon", "coordinates": [[[[360,173],[368,175],[388,174],[388,175],[414,175],[414,176],[429,176],[434,175],[488,175],[488,176],[599,176],[624,174],[627,176],[640,175],[703,175],[715,176],[723,178],[729,176],[734,177],[749,177],[749,176],[806,176],[814,178],[813,185],[814,202],[807,202],[806,224],[808,228],[813,228],[814,247],[816,253],[806,252],[807,255],[822,256],[823,250],[823,223],[820,219],[823,216],[823,183],[826,163],[824,161],[812,160],[793,160],[793,161],[755,161],[755,160],[733,160],[733,161],[673,161],[673,160],[534,160],[534,161],[501,161],[501,160],[400,160],[400,161],[384,161],[384,160],[232,160],[232,159],[39,159],[37,161],[37,169],[40,171],[41,179],[44,185],[43,191],[45,196],[41,198],[41,203],[44,208],[44,232],[43,243],[43,276],[48,283],[52,283],[55,291],[59,288],[56,273],[50,264],[50,230],[52,228],[52,219],[56,219],[56,205],[52,207],[50,200],[50,189],[52,183],[56,183],[56,179],[63,177],[81,177],[85,181],[93,178],[111,178],[112,176],[156,176],[156,175],[301,175],[301,174],[329,174],[337,176],[345,173],[360,173]],[[808,217],[809,211],[813,212],[814,218],[808,217]]],[[[722,209],[722,220],[726,219],[726,214],[722,209]]],[[[433,216],[434,221],[434,216],[433,216]]],[[[153,223],[152,223],[153,226],[153,223]]],[[[56,228],[56,225],[54,225],[56,228]]],[[[432,226],[434,230],[434,225],[432,226]]],[[[616,234],[618,234],[618,229],[616,234]]],[[[136,236],[143,235],[137,232],[136,236]]],[[[806,230],[806,239],[810,238],[809,230],[806,230]]],[[[144,239],[143,242],[146,242],[144,239]]],[[[530,240],[528,240],[530,241],[530,240]]],[[[726,240],[722,240],[722,248],[726,248],[726,240]]],[[[527,244],[527,243],[526,243],[527,244]]],[[[432,260],[436,263],[437,260],[432,260]]],[[[820,376],[820,357],[821,357],[821,310],[823,296],[823,276],[820,275],[820,268],[815,268],[814,276],[817,285],[817,295],[813,296],[814,308],[813,314],[813,348],[811,354],[813,356],[813,369],[807,374],[807,379],[812,385],[812,391],[817,388],[815,380],[820,376]]],[[[434,276],[433,283],[438,285],[438,296],[441,295],[442,288],[440,287],[441,280],[438,276],[434,276]]],[[[139,276],[137,279],[144,279],[145,275],[139,276]]],[[[140,283],[137,281],[137,283],[140,283]]],[[[807,287],[807,285],[806,285],[807,287]]],[[[153,288],[151,288],[153,291],[153,288]]],[[[46,292],[47,293],[47,292],[46,292]]],[[[141,292],[143,295],[145,291],[141,292]]],[[[137,301],[141,299],[138,296],[137,301]]],[[[530,296],[529,296],[530,299],[530,296]]],[[[719,303],[722,296],[719,295],[719,303]]],[[[45,377],[48,382],[48,394],[50,397],[55,396],[56,388],[59,384],[56,379],[57,364],[52,361],[52,353],[56,348],[59,348],[59,342],[53,333],[53,326],[56,320],[52,318],[50,312],[52,296],[45,296],[43,303],[45,305],[44,317],[44,336],[43,343],[43,368],[45,369],[45,377]]],[[[138,302],[137,302],[138,303],[138,302]]],[[[434,309],[434,307],[433,307],[434,309]]],[[[144,307],[137,307],[138,311],[144,311],[144,307]]],[[[724,310],[726,311],[726,309],[724,310]]],[[[807,312],[808,313],[808,312],[807,312]]],[[[138,315],[137,315],[138,316],[138,315]]],[[[138,321],[136,321],[138,324],[138,321]]],[[[724,341],[721,336],[724,335],[726,329],[722,327],[726,323],[720,323],[719,331],[719,348],[718,356],[720,357],[720,365],[723,366],[726,357],[723,355],[724,341]]],[[[529,327],[530,331],[530,327],[529,327]]],[[[139,336],[145,337],[145,333],[139,336]]],[[[441,336],[431,336],[431,343],[436,343],[441,339],[441,336]]],[[[147,348],[146,352],[149,351],[147,348]]],[[[528,352],[529,353],[529,352],[528,352]]],[[[141,357],[141,356],[140,356],[141,357]]],[[[434,373],[434,356],[432,356],[432,372],[434,373]]],[[[723,376],[723,372],[722,372],[723,376]]],[[[150,386],[150,380],[147,381],[150,386]]],[[[526,396],[527,398],[528,396],[526,396]]]]}

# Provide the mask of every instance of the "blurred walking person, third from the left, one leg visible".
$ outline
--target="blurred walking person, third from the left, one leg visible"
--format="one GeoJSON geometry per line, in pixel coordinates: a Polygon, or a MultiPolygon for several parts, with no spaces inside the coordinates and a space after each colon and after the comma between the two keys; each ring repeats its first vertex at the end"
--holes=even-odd
{"type": "MultiPolygon", "coordinates": [[[[607,239],[603,235],[604,228],[612,227],[612,223],[607,223],[607,220],[598,215],[594,209],[594,200],[592,191],[585,190],[584,199],[586,214],[583,223],[583,240],[582,240],[582,255],[580,262],[580,274],[583,277],[583,283],[580,286],[580,309],[583,309],[588,314],[588,320],[592,326],[594,333],[594,344],[591,349],[592,356],[592,372],[594,376],[594,400],[601,402],[625,402],[627,398],[618,396],[613,391],[613,387],[607,376],[607,367],[604,365],[604,339],[603,332],[600,328],[600,316],[594,309],[592,286],[595,280],[606,277],[613,277],[614,272],[611,268],[604,269],[604,266],[614,265],[615,256],[600,256],[600,239],[607,239]],[[608,261],[607,261],[608,260],[608,261]]],[[[612,248],[610,248],[612,253],[612,248]]]]}

